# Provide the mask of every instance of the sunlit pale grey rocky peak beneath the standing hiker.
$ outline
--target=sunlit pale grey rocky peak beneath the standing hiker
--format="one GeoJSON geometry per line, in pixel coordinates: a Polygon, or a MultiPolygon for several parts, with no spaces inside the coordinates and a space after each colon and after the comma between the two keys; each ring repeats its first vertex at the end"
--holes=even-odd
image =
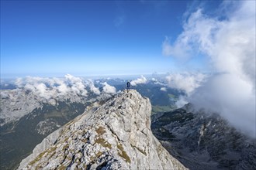
{"type": "Polygon", "coordinates": [[[19,169],[186,169],[154,138],[150,112],[136,90],[120,93],[50,134],[19,169]]]}

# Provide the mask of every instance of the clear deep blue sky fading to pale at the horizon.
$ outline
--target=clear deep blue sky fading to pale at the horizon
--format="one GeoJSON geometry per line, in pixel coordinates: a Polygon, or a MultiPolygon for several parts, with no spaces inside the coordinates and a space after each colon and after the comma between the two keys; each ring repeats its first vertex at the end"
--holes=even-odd
{"type": "Polygon", "coordinates": [[[220,2],[1,1],[1,76],[77,76],[205,70],[163,56],[188,12],[220,2]]]}

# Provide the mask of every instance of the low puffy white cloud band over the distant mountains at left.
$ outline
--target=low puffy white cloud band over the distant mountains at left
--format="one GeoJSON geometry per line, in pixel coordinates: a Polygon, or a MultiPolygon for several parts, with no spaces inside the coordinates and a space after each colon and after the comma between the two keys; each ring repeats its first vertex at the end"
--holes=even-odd
{"type": "Polygon", "coordinates": [[[82,80],[80,77],[67,74],[64,79],[32,77],[18,78],[16,86],[25,90],[32,91],[45,100],[61,98],[65,96],[87,97],[88,90],[97,95],[100,94],[99,88],[95,87],[92,80],[82,80]]]}

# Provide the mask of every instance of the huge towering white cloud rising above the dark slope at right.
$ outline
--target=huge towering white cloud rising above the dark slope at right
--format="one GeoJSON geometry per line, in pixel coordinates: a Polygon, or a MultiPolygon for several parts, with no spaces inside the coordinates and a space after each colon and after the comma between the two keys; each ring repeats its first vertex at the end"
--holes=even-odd
{"type": "Polygon", "coordinates": [[[223,2],[220,8],[225,9],[221,19],[202,8],[189,15],[175,42],[164,40],[163,54],[181,59],[206,56],[216,74],[193,93],[191,86],[177,86],[192,93],[189,101],[195,106],[222,114],[255,138],[255,2],[223,2]]]}

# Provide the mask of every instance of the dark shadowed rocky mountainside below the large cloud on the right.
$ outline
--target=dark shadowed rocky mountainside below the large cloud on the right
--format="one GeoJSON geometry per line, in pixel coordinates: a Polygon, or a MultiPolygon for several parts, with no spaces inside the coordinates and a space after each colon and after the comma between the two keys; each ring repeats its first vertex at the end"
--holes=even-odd
{"type": "Polygon", "coordinates": [[[191,105],[152,121],[154,135],[190,169],[256,169],[256,141],[218,114],[195,112],[191,105]]]}

